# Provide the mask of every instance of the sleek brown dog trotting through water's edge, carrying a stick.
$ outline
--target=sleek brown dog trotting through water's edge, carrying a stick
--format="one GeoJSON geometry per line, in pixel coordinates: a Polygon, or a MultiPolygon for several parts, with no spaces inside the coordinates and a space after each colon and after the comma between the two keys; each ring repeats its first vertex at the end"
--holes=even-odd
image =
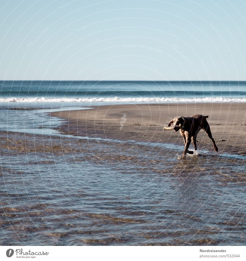
{"type": "Polygon", "coordinates": [[[206,118],[208,118],[208,116],[197,114],[197,115],[192,115],[190,117],[175,117],[172,121],[169,122],[168,126],[170,127],[171,123],[173,123],[173,130],[174,131],[179,130],[181,136],[184,138],[185,150],[183,152],[183,156],[185,156],[186,153],[193,154],[193,151],[188,150],[189,145],[191,143],[191,139],[194,144],[194,149],[195,150],[197,149],[196,136],[200,131],[200,129],[204,129],[208,137],[212,140],[214,150],[218,152],[218,148],[214,142],[206,118]]]}

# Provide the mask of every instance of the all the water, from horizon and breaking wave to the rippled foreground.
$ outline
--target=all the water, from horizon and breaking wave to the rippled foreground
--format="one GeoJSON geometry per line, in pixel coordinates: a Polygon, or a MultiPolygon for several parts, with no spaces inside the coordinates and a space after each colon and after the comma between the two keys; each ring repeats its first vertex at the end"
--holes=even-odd
{"type": "Polygon", "coordinates": [[[245,245],[245,157],[66,135],[51,111],[246,102],[246,82],[2,81],[1,245],[245,245]]]}

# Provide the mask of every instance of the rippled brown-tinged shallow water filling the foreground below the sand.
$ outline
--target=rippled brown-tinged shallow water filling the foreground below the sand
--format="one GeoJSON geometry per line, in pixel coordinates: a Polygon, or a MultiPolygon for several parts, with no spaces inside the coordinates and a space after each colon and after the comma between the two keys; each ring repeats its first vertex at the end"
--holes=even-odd
{"type": "Polygon", "coordinates": [[[1,245],[245,245],[244,157],[35,131],[0,146],[1,245]]]}

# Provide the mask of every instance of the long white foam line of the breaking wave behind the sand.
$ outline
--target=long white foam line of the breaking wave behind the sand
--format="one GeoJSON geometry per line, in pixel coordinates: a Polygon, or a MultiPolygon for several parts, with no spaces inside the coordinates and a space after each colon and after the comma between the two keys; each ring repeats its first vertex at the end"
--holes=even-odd
{"type": "Polygon", "coordinates": [[[138,102],[163,102],[163,103],[194,103],[194,102],[246,102],[246,98],[222,98],[222,97],[205,97],[205,98],[162,98],[162,97],[102,97],[102,98],[45,98],[45,97],[11,97],[0,98],[0,102],[121,102],[121,103],[138,103],[138,102]]]}

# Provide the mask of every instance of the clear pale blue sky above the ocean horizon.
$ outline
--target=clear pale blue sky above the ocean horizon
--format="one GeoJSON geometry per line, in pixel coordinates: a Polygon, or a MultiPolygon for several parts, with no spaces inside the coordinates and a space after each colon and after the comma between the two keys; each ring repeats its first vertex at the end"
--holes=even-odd
{"type": "Polygon", "coordinates": [[[10,0],[6,80],[246,80],[246,3],[10,0]]]}

